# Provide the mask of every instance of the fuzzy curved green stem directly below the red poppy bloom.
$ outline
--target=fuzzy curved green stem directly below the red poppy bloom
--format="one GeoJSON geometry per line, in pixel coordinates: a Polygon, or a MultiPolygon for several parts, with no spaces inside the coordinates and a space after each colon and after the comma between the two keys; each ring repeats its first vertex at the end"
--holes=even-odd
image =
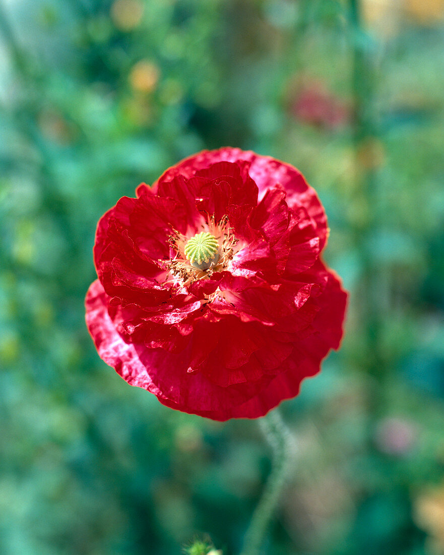
{"type": "Polygon", "coordinates": [[[247,529],[241,555],[258,555],[260,553],[268,525],[285,485],[290,463],[294,458],[293,437],[277,409],[261,418],[259,425],[273,448],[273,467],[247,529]]]}

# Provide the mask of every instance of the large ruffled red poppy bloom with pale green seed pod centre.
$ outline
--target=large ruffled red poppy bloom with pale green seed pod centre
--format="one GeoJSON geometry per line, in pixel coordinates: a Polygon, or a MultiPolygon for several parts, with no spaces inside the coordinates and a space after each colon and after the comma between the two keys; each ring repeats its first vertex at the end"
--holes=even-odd
{"type": "Polygon", "coordinates": [[[172,408],[263,416],[343,334],[346,293],[299,171],[234,148],[167,170],[99,221],[86,322],[101,358],[172,408]]]}

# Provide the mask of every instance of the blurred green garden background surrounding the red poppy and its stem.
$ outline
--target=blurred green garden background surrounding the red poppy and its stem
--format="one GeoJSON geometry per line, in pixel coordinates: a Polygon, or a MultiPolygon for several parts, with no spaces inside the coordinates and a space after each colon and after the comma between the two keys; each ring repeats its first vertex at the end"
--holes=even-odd
{"type": "Polygon", "coordinates": [[[0,129],[0,553],[239,551],[257,422],[128,386],[83,307],[101,214],[223,145],[304,173],[350,290],[264,553],[444,553],[444,0],[1,0],[0,129]]]}

